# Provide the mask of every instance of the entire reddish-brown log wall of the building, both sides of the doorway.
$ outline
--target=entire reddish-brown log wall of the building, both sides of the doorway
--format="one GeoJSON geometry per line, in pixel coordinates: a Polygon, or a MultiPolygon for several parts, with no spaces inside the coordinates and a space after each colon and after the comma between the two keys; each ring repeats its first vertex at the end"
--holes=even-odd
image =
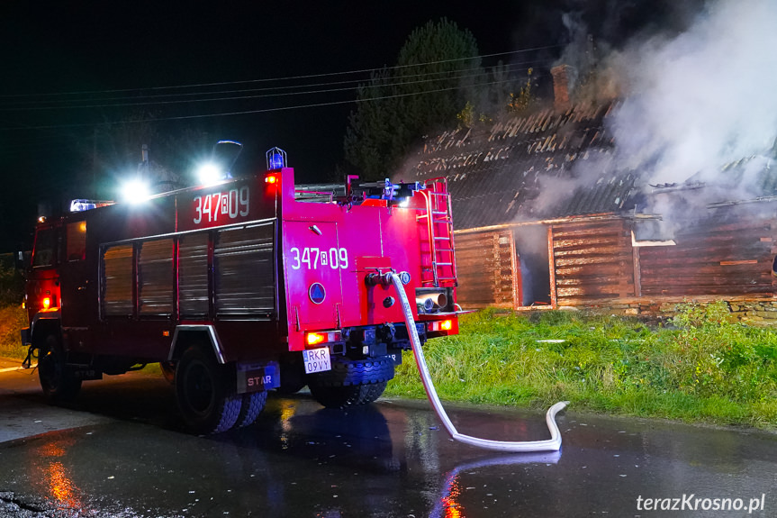
{"type": "MultiPolygon", "coordinates": [[[[718,214],[677,232],[672,246],[636,247],[627,220],[554,223],[550,250],[556,304],[598,306],[619,299],[652,304],[723,295],[768,300],[777,294],[774,220],[771,215],[718,214]]],[[[515,260],[509,229],[457,233],[459,303],[467,308],[520,305],[515,260]]]]}

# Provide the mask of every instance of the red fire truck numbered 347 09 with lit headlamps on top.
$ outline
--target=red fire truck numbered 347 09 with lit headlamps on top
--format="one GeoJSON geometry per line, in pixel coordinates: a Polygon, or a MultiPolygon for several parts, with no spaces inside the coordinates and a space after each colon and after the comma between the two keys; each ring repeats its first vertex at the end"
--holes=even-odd
{"type": "Polygon", "coordinates": [[[51,402],[154,362],[199,433],[253,423],[268,389],[373,402],[410,349],[387,272],[416,302],[421,341],[458,332],[445,180],[299,191],[281,153],[248,177],[79,200],[39,223],[22,340],[51,402]]]}

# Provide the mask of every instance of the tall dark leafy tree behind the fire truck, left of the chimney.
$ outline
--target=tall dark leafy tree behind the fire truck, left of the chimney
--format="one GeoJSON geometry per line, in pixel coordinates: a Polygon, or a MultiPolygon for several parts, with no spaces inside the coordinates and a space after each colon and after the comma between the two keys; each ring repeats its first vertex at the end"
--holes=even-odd
{"type": "Polygon", "coordinates": [[[396,67],[358,89],[344,142],[348,164],[366,179],[391,176],[424,134],[456,124],[481,72],[471,32],[445,18],[415,29],[396,67]]]}

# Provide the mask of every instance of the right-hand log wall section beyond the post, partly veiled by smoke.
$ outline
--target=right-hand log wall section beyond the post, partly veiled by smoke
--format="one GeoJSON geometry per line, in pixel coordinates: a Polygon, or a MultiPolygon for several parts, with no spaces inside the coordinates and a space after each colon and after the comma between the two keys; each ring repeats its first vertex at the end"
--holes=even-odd
{"type": "Polygon", "coordinates": [[[769,219],[732,218],[686,227],[674,246],[640,247],[642,295],[771,295],[774,237],[769,219]]]}

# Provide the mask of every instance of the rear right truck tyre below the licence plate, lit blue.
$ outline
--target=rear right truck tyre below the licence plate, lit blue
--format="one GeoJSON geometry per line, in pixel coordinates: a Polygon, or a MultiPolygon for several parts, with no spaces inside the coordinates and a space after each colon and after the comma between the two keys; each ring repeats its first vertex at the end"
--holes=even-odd
{"type": "Polygon", "coordinates": [[[332,369],[308,376],[313,398],[328,408],[374,402],[393,378],[393,359],[332,359],[332,369]]]}

